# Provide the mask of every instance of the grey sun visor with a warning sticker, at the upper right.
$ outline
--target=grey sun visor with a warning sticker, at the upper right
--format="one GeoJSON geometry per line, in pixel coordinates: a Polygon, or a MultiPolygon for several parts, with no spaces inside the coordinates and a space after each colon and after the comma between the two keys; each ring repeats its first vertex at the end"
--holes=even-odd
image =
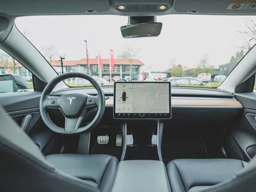
{"type": "Polygon", "coordinates": [[[256,1],[176,0],[174,11],[179,14],[255,15],[256,1]]]}

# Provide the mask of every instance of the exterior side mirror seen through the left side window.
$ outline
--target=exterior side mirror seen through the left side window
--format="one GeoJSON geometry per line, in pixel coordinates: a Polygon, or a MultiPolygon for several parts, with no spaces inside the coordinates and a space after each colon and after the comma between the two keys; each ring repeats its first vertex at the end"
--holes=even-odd
{"type": "Polygon", "coordinates": [[[18,92],[18,86],[12,75],[0,75],[0,93],[18,92]]]}

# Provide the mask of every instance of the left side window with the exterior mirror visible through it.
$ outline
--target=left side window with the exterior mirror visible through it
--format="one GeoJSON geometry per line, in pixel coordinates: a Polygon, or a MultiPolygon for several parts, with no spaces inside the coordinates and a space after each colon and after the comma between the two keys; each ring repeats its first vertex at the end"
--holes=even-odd
{"type": "Polygon", "coordinates": [[[33,91],[32,73],[0,49],[0,93],[33,91]]]}

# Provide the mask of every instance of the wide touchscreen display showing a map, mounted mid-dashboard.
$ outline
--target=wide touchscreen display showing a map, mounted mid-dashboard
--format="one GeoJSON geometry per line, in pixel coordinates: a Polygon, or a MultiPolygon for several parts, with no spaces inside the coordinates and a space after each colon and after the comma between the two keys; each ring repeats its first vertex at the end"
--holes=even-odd
{"type": "Polygon", "coordinates": [[[121,119],[169,119],[169,82],[116,82],[114,117],[121,119]]]}

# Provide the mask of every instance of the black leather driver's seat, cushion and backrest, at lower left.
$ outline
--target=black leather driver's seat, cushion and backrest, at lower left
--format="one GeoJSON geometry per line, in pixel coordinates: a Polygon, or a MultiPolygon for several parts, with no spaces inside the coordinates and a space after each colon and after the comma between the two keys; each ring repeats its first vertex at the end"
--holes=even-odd
{"type": "Polygon", "coordinates": [[[108,155],[44,157],[0,106],[1,191],[109,191],[117,167],[108,155]],[[63,171],[63,172],[62,172],[63,171]]]}

